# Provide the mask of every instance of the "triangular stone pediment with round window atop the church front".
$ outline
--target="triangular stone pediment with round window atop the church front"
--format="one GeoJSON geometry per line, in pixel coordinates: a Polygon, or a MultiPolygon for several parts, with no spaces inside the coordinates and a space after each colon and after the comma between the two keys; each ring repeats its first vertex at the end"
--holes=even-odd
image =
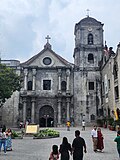
{"type": "Polygon", "coordinates": [[[36,67],[71,67],[73,66],[72,63],[69,63],[64,58],[56,54],[50,47],[46,47],[48,44],[45,45],[44,49],[27,60],[24,63],[21,63],[21,66],[29,67],[29,66],[36,66],[36,67]]]}

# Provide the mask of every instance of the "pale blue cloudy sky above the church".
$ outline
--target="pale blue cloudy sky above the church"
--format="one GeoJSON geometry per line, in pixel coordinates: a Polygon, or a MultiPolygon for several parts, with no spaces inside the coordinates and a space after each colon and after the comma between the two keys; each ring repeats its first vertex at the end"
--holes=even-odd
{"type": "Polygon", "coordinates": [[[1,59],[27,61],[51,37],[52,50],[73,62],[74,27],[87,15],[104,23],[104,41],[120,42],[120,0],[0,0],[1,59]]]}

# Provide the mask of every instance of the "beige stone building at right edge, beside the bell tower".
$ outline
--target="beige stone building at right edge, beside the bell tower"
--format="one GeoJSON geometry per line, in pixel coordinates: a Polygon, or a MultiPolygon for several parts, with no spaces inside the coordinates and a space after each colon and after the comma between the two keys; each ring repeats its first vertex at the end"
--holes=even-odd
{"type": "Polygon", "coordinates": [[[109,50],[101,62],[103,116],[115,118],[114,110],[118,110],[118,113],[120,110],[120,44],[116,53],[109,50]]]}

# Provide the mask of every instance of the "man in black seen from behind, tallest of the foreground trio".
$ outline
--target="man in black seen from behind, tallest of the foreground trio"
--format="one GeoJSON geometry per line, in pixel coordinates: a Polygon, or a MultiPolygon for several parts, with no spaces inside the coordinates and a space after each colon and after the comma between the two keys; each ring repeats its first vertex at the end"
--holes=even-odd
{"type": "Polygon", "coordinates": [[[86,153],[86,143],[85,140],[80,137],[80,131],[75,131],[75,139],[72,143],[72,150],[73,150],[73,160],[83,160],[83,148],[84,152],[86,153]]]}

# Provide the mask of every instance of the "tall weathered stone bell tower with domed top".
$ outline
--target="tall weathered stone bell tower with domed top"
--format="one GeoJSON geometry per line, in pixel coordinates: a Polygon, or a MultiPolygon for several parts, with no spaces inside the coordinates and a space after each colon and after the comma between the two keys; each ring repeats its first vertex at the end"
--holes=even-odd
{"type": "Polygon", "coordinates": [[[80,125],[94,122],[101,107],[99,61],[103,52],[103,24],[87,16],[76,23],[74,48],[74,117],[80,125]]]}

